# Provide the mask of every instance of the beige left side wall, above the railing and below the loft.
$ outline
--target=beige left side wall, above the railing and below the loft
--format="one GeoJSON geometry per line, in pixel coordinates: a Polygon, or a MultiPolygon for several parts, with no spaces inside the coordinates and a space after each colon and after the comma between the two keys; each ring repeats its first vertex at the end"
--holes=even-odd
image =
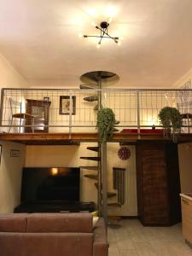
{"type": "MultiPolygon", "coordinates": [[[[27,82],[2,55],[0,55],[0,88],[22,87],[27,82]]],[[[7,131],[7,128],[1,129],[7,131]]],[[[0,212],[13,212],[20,204],[21,170],[25,162],[25,146],[0,142],[2,157],[0,166],[0,212]],[[10,157],[10,149],[20,150],[20,157],[10,157]]]]}

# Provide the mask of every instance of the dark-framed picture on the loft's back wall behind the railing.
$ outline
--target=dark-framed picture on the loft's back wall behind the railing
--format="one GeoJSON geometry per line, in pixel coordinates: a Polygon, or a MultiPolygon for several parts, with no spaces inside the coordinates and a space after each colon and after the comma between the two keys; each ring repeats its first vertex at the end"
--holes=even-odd
{"type": "MultiPolygon", "coordinates": [[[[72,96],[72,114],[75,114],[76,96],[72,96]]],[[[70,96],[60,96],[60,114],[70,113],[70,96]]]]}

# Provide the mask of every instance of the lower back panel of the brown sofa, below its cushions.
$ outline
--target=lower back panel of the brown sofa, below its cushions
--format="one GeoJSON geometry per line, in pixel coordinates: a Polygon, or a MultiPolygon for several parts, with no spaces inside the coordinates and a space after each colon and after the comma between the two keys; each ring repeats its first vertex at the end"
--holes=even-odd
{"type": "Polygon", "coordinates": [[[91,256],[92,251],[93,233],[0,232],[1,256],[91,256]]]}

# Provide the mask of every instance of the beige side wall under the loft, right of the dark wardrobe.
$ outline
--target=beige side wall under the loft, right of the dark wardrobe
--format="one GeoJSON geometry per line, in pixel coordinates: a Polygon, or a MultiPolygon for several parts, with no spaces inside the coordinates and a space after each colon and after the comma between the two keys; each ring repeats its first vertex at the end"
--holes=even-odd
{"type": "Polygon", "coordinates": [[[178,145],[181,192],[192,192],[192,143],[178,145]]]}

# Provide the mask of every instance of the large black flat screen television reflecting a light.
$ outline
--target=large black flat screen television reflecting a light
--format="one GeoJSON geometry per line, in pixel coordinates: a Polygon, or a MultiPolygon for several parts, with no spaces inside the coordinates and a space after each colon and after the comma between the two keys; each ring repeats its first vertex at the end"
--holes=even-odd
{"type": "Polygon", "coordinates": [[[21,202],[79,201],[80,169],[76,167],[25,167],[21,202]]]}

